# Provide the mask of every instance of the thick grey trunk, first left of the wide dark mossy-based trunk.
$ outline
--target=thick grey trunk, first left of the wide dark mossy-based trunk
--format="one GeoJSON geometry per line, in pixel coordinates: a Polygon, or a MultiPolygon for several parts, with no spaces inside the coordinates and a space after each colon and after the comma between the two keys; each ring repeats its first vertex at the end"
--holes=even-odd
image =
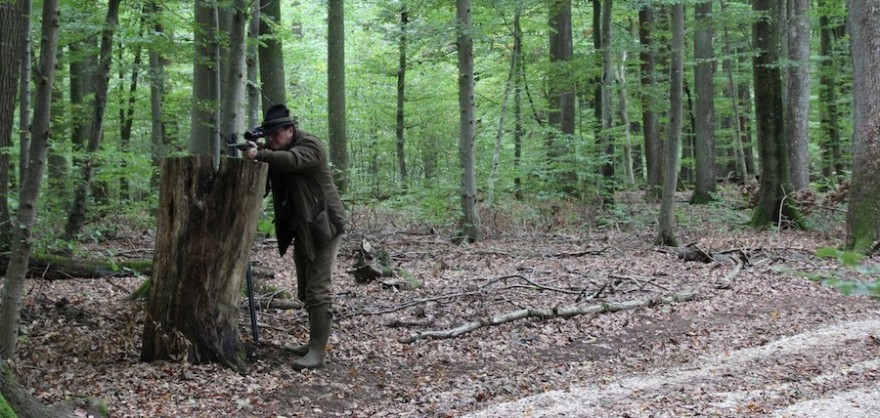
{"type": "Polygon", "coordinates": [[[697,95],[694,131],[696,183],[691,203],[715,199],[715,54],[712,47],[712,2],[694,6],[697,28],[694,31],[694,93],[697,95]]]}

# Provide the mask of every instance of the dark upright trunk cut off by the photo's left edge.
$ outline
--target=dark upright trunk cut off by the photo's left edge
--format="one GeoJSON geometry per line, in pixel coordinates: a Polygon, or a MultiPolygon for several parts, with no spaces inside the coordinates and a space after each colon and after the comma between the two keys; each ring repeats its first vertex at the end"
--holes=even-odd
{"type": "Polygon", "coordinates": [[[0,57],[9,59],[0,65],[0,249],[6,247],[12,236],[11,214],[8,196],[10,184],[9,149],[12,147],[12,122],[15,116],[15,99],[20,71],[22,40],[21,13],[24,1],[0,2],[0,57]]]}

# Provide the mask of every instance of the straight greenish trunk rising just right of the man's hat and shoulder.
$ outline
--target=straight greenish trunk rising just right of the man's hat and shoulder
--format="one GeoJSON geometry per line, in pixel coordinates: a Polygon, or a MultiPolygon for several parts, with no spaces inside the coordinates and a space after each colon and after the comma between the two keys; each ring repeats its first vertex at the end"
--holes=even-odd
{"type": "Polygon", "coordinates": [[[327,10],[327,121],[330,163],[340,193],[348,190],[345,115],[345,1],[329,0],[327,10]]]}

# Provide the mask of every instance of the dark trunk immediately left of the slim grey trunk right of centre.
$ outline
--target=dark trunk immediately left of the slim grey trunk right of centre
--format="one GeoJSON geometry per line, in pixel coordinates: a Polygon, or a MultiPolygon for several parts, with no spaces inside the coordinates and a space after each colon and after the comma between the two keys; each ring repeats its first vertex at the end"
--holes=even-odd
{"type": "Polygon", "coordinates": [[[647,172],[648,188],[646,196],[655,200],[661,195],[661,181],[663,179],[663,143],[660,141],[660,122],[654,105],[654,89],[656,59],[654,54],[654,11],[650,5],[639,9],[639,43],[642,50],[639,53],[642,78],[642,135],[645,142],[645,167],[647,172]]]}

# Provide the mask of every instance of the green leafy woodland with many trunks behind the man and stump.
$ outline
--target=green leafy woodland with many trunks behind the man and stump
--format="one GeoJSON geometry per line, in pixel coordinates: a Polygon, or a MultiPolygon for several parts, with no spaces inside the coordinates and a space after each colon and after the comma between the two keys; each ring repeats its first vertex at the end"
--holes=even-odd
{"type": "MultiPolygon", "coordinates": [[[[501,235],[481,221],[499,214],[617,226],[637,192],[661,202],[640,227],[677,245],[676,193],[740,185],[759,228],[809,227],[817,194],[849,191],[841,245],[871,253],[878,11],[863,3],[4,1],[0,242],[14,259],[17,243],[70,255],[149,233],[163,158],[219,159],[283,102],[327,138],[353,211],[458,240],[501,235]]],[[[20,290],[3,302],[9,319],[20,290]]]]}

